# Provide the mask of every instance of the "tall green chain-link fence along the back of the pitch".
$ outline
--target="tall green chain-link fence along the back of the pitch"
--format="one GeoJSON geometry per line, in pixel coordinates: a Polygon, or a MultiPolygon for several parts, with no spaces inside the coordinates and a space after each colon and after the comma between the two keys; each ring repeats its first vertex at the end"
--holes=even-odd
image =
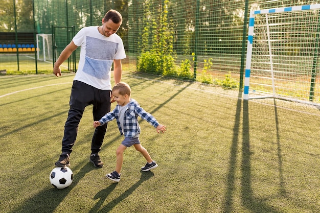
{"type": "MultiPolygon", "coordinates": [[[[157,49],[159,53],[172,55],[174,66],[190,65],[194,77],[210,74],[211,80],[234,81],[241,88],[249,11],[317,3],[298,0],[16,0],[16,4],[12,4],[1,1],[5,9],[0,9],[3,22],[0,25],[0,70],[33,70],[34,73],[51,70],[54,54],[58,56],[75,33],[86,26],[101,25],[105,12],[116,9],[124,18],[118,34],[123,38],[130,63],[136,65],[142,53],[157,49]],[[50,35],[54,36],[51,40],[50,35]],[[18,49],[18,45],[32,45],[33,48],[22,49],[21,46],[18,49]],[[186,59],[190,64],[181,62],[186,59]]],[[[65,70],[76,69],[77,60],[71,60],[64,64],[65,70]]]]}

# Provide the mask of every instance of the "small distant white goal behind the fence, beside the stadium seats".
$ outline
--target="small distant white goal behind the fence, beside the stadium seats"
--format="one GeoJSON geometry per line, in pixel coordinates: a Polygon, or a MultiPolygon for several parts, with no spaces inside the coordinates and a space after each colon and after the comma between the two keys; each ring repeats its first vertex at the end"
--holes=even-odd
{"type": "Polygon", "coordinates": [[[40,61],[53,61],[52,34],[37,34],[37,58],[40,61]]]}

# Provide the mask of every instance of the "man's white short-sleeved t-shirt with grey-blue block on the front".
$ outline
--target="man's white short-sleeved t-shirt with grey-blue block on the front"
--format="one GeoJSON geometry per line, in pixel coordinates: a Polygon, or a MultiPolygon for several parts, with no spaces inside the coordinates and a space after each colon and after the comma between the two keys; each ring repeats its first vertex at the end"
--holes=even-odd
{"type": "Polygon", "coordinates": [[[81,46],[74,80],[102,90],[111,90],[110,72],[114,59],[126,58],[122,39],[117,34],[106,37],[98,26],[82,28],[73,38],[81,46]]]}

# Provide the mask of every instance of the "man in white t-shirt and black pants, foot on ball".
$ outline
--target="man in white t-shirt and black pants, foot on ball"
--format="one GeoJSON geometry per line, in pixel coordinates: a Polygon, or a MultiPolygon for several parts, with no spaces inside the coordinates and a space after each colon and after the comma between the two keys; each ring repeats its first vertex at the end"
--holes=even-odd
{"type": "MultiPolygon", "coordinates": [[[[62,154],[55,163],[56,167],[70,165],[70,154],[75,144],[78,125],[86,106],[93,104],[94,120],[99,120],[110,111],[111,80],[113,62],[115,84],[121,81],[122,63],[126,58],[122,39],[116,34],[122,23],[122,16],[116,10],[109,10],[102,19],[102,26],[85,27],[61,52],[54,64],[53,73],[61,76],[59,66],[81,46],[78,70],[74,78],[70,109],[64,125],[62,154]]],[[[99,151],[106,133],[107,124],[96,128],[91,144],[90,162],[102,168],[99,151]]]]}

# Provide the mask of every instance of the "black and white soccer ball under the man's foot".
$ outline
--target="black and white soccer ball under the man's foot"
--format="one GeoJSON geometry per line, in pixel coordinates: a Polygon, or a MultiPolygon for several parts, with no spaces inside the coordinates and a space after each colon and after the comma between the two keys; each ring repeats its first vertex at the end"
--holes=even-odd
{"type": "Polygon", "coordinates": [[[73,172],[68,167],[56,167],[49,176],[51,184],[61,190],[70,186],[73,181],[73,172]]]}

